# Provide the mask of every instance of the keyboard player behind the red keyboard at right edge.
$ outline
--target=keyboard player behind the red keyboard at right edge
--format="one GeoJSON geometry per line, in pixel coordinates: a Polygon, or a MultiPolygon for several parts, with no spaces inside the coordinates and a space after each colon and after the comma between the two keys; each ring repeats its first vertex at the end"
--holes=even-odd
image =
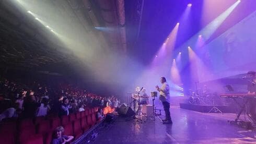
{"type": "MultiPolygon", "coordinates": [[[[247,89],[249,94],[256,93],[256,77],[255,71],[248,71],[248,77],[250,78],[250,82],[248,82],[247,89]]],[[[255,113],[256,99],[251,98],[249,100],[249,116],[252,117],[256,121],[256,113],[255,113]]]]}

